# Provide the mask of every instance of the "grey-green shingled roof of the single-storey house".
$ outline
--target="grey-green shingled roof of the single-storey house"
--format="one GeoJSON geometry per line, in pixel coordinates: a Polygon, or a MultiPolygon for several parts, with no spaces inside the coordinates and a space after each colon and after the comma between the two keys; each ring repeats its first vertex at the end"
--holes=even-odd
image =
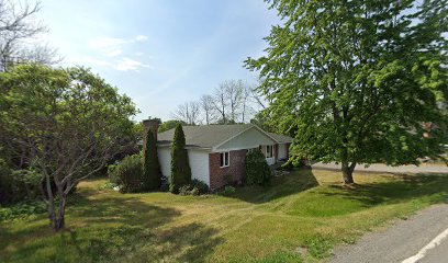
{"type": "MultiPolygon", "coordinates": [[[[203,126],[182,126],[183,133],[186,135],[187,146],[195,146],[201,148],[213,148],[232,137],[255,127],[253,124],[237,124],[237,125],[203,125],[203,126]]],[[[169,145],[175,136],[175,129],[170,129],[157,135],[157,140],[159,145],[169,145]]],[[[292,138],[283,135],[269,134],[273,139],[279,142],[285,141],[292,138]],[[284,141],[283,141],[284,140],[284,141]]]]}

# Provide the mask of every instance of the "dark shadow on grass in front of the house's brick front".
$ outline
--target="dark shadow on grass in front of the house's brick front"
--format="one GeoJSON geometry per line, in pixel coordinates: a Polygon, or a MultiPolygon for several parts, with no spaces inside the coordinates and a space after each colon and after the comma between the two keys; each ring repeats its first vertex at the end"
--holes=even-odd
{"type": "Polygon", "coordinates": [[[231,197],[253,204],[262,204],[316,187],[317,185],[318,182],[313,171],[304,168],[291,171],[287,175],[275,176],[271,185],[267,187],[244,186],[231,197]]]}

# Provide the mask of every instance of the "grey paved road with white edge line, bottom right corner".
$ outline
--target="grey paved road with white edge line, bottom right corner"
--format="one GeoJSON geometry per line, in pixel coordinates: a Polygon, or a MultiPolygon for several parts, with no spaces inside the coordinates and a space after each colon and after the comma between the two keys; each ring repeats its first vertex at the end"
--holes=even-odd
{"type": "Polygon", "coordinates": [[[407,220],[365,235],[334,250],[333,263],[448,262],[448,205],[435,205],[407,220]]]}

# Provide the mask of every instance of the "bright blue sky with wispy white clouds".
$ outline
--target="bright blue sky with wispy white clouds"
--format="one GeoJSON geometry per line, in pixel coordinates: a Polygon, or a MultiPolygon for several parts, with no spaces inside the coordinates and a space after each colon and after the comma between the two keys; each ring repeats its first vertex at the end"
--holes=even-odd
{"type": "Polygon", "coordinates": [[[147,116],[168,119],[180,103],[226,79],[256,81],[243,67],[278,23],[262,0],[43,0],[44,36],[63,66],[90,67],[147,116]]]}

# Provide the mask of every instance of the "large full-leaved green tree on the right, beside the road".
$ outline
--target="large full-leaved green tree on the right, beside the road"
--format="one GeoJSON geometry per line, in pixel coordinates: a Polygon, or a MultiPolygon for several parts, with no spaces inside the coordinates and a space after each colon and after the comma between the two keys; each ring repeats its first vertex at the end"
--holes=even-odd
{"type": "Polygon", "coordinates": [[[447,1],[268,1],[282,24],[266,37],[259,91],[298,158],[417,163],[447,141],[447,1]],[[427,125],[432,124],[432,125],[427,125]]]}

